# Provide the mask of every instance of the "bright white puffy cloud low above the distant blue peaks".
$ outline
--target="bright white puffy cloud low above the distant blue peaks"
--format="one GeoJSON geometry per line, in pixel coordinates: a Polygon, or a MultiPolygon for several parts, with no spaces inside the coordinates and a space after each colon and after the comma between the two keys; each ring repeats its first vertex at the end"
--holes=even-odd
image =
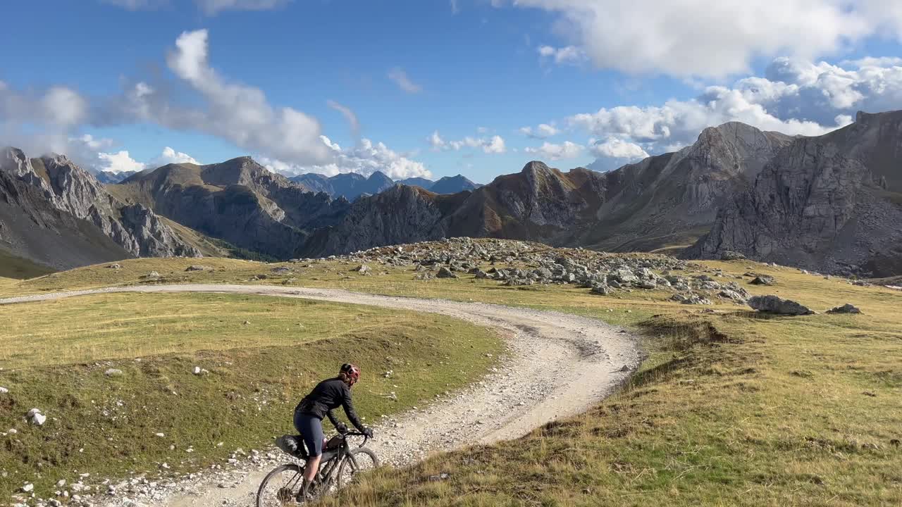
{"type": "Polygon", "coordinates": [[[317,172],[327,176],[345,172],[357,172],[369,176],[375,171],[382,171],[389,178],[403,180],[405,178],[431,178],[432,173],[419,161],[411,161],[406,156],[394,152],[383,143],[373,143],[369,139],[361,139],[352,148],[342,148],[325,135],[320,142],[332,153],[330,161],[323,164],[292,164],[278,159],[263,157],[261,163],[270,171],[282,174],[302,174],[317,172]]]}

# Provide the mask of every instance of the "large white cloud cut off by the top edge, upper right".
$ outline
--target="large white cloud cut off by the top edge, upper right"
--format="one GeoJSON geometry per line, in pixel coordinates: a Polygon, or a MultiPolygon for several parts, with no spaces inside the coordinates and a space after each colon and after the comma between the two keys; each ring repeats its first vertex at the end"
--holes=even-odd
{"type": "Polygon", "coordinates": [[[555,32],[599,68],[678,77],[724,77],[748,71],[757,58],[812,59],[870,36],[902,34],[902,5],[885,0],[516,0],[512,5],[557,14],[555,32]]]}

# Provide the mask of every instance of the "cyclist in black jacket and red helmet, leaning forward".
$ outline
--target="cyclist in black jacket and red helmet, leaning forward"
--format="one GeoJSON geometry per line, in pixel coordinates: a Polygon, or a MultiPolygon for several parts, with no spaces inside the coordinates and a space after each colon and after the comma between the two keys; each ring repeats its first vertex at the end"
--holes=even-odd
{"type": "Polygon", "coordinates": [[[345,433],[347,427],[332,413],[332,410],[342,407],[351,424],[367,437],[373,438],[373,430],[360,423],[351,401],[351,387],[359,380],[359,368],[350,363],[342,364],[337,377],[318,383],[294,409],[294,427],[304,439],[309,454],[304,468],[304,484],[298,495],[300,501],[306,498],[309,485],[319,470],[319,460],[323,455],[323,417],[327,416],[339,433],[345,433]]]}

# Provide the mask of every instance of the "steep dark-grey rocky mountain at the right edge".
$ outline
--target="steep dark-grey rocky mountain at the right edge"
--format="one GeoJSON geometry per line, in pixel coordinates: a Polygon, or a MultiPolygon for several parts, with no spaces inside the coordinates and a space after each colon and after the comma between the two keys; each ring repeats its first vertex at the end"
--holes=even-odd
{"type": "Polygon", "coordinates": [[[819,272],[902,272],[902,196],[881,188],[887,175],[876,178],[869,166],[888,171],[875,161],[888,153],[902,156],[902,115],[865,117],[870,127],[852,124],[796,139],[778,152],[753,186],[724,204],[710,233],[682,256],[718,258],[736,251],[819,272]],[[878,134],[887,131],[895,134],[878,134]],[[854,142],[859,137],[861,144],[854,142]]]}

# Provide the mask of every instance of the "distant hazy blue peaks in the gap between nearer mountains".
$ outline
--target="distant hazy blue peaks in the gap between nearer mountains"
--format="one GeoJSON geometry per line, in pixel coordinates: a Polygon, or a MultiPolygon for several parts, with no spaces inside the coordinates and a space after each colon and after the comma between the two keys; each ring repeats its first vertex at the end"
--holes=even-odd
{"type": "Polygon", "coordinates": [[[473,190],[480,185],[467,180],[464,176],[446,176],[437,181],[426,178],[408,178],[406,180],[391,180],[382,171],[375,171],[369,177],[356,172],[336,174],[332,177],[310,172],[290,178],[291,181],[303,185],[315,192],[326,192],[333,198],[346,198],[354,201],[362,196],[372,196],[387,189],[391,189],[396,183],[422,189],[431,190],[437,194],[456,194],[464,190],[473,190]]]}

